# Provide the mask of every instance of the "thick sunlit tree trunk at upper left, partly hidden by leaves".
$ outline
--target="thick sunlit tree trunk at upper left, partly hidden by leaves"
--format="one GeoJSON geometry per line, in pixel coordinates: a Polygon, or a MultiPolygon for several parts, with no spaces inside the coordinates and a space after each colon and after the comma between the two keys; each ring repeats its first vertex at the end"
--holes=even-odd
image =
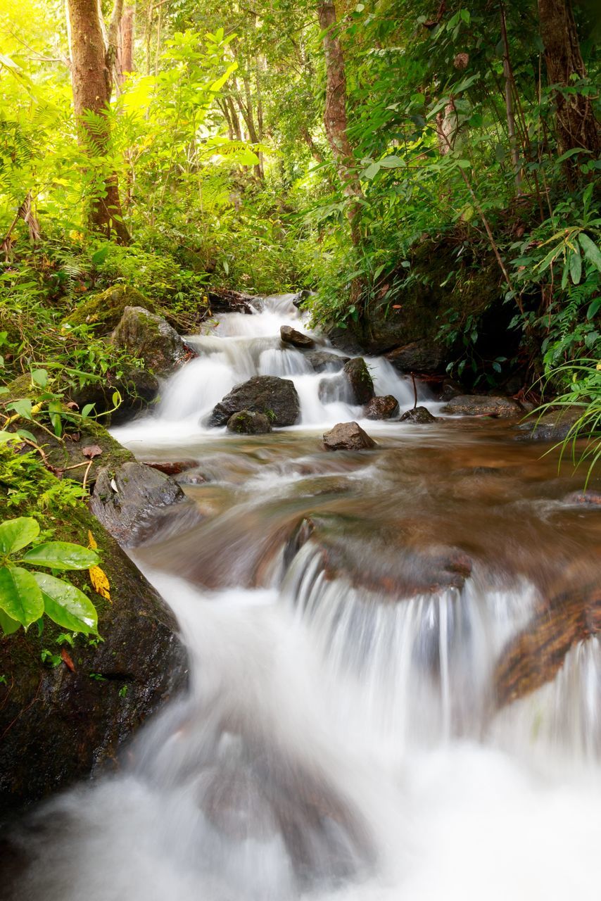
{"type": "MultiPolygon", "coordinates": [[[[97,127],[91,129],[83,117],[87,111],[105,116],[113,90],[111,46],[105,46],[96,0],[68,0],[68,18],[73,103],[79,141],[90,157],[102,156],[110,136],[108,121],[99,131],[97,127]]],[[[96,196],[88,211],[91,227],[107,238],[114,233],[117,241],[127,243],[130,236],[123,223],[115,173],[105,177],[104,189],[99,193],[105,196],[96,196]]]]}

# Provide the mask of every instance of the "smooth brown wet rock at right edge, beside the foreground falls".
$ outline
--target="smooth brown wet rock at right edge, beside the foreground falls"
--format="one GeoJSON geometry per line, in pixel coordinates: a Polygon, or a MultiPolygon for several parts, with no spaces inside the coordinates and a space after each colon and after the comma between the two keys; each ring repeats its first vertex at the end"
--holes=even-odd
{"type": "Polygon", "coordinates": [[[529,695],[555,677],[569,649],[601,633],[601,589],[588,585],[541,606],[496,664],[499,707],[529,695]]]}

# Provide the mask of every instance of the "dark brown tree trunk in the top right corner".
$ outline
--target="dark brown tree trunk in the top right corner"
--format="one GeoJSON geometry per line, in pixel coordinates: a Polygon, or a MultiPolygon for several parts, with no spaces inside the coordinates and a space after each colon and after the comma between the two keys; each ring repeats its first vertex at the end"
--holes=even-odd
{"type": "MultiPolygon", "coordinates": [[[[538,0],[541,37],[550,85],[569,86],[570,77],[585,77],[578,33],[570,0],[538,0]]],[[[574,148],[599,154],[599,123],[587,96],[555,93],[557,141],[560,154],[574,148]]],[[[569,164],[570,160],[567,161],[569,164]]],[[[570,170],[573,171],[571,165],[570,170]]]]}

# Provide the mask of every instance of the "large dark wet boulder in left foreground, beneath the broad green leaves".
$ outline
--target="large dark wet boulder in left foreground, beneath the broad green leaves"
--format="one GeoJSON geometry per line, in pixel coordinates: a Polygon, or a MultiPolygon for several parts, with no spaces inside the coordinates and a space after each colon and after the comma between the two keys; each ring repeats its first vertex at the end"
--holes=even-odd
{"type": "MultiPolygon", "coordinates": [[[[174,617],[117,542],[84,505],[68,509],[57,537],[101,551],[111,599],[93,595],[104,642],[83,637],[68,648],[75,671],[41,662],[43,648],[60,653],[62,631],[20,630],[0,641],[0,810],[8,813],[114,767],[122,743],[187,682],[186,652],[174,617]]],[[[89,590],[87,571],[68,574],[89,590]]]]}

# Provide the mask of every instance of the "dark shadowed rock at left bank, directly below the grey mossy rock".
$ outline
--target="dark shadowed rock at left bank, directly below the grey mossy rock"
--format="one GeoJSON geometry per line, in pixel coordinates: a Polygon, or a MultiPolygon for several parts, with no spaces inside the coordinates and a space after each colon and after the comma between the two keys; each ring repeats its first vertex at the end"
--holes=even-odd
{"type": "Polygon", "coordinates": [[[115,391],[121,395],[121,403],[110,416],[104,417],[104,421],[106,424],[121,425],[147,409],[156,399],[159,382],[147,369],[128,366],[118,378],[107,373],[102,381],[71,389],[69,400],[74,401],[80,410],[87,404],[94,404],[95,414],[107,413],[113,410],[115,391]]]}

